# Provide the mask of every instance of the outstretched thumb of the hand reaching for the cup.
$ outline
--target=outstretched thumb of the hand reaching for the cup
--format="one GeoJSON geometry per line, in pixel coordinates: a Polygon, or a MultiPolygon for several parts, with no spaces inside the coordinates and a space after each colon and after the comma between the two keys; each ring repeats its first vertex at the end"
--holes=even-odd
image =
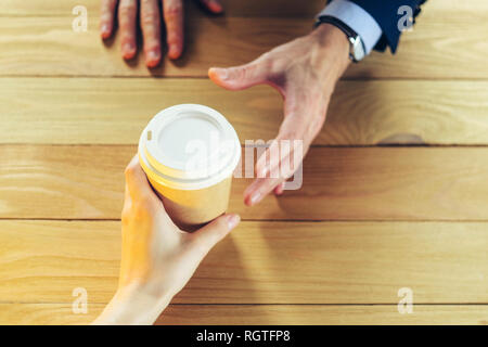
{"type": "Polygon", "coordinates": [[[267,82],[269,66],[265,59],[235,67],[211,67],[208,77],[218,86],[229,90],[242,90],[267,82]]]}

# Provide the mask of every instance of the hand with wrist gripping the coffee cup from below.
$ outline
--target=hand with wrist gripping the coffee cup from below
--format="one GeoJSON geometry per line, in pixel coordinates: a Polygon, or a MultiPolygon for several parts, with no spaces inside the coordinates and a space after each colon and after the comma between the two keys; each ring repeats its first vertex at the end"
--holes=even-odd
{"type": "Polygon", "coordinates": [[[134,157],[126,169],[118,290],[93,323],[152,324],[239,221],[223,215],[193,233],[181,231],[134,157]]]}

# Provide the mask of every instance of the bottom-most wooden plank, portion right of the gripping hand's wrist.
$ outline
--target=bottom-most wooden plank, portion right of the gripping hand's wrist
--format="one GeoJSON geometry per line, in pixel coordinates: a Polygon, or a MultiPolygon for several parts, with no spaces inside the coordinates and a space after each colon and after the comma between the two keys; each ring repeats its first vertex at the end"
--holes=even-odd
{"type": "Polygon", "coordinates": [[[400,314],[397,306],[215,306],[172,305],[156,324],[201,325],[424,325],[488,324],[487,306],[414,305],[413,313],[400,314]]]}

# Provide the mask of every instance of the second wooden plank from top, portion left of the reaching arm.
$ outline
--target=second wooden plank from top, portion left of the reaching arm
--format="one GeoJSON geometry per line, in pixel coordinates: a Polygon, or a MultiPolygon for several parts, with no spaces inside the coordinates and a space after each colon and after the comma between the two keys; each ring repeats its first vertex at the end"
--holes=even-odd
{"type": "Polygon", "coordinates": [[[121,60],[120,36],[107,44],[101,41],[94,25],[98,18],[87,33],[73,31],[72,21],[2,18],[0,76],[207,76],[211,65],[245,63],[264,53],[270,43],[285,42],[310,30],[310,21],[196,18],[188,24],[184,56],[147,70],[140,54],[128,64],[121,60]],[[261,25],[257,26],[257,21],[261,25]]]}

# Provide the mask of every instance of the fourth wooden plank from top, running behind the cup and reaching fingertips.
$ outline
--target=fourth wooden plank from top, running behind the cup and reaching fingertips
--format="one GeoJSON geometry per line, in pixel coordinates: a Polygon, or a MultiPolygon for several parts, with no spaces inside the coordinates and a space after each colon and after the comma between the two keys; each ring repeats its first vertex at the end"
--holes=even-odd
{"type": "MultiPolygon", "coordinates": [[[[132,145],[1,145],[0,218],[118,219],[132,145]]],[[[486,220],[487,147],[313,147],[304,185],[230,210],[247,219],[486,220]]]]}

